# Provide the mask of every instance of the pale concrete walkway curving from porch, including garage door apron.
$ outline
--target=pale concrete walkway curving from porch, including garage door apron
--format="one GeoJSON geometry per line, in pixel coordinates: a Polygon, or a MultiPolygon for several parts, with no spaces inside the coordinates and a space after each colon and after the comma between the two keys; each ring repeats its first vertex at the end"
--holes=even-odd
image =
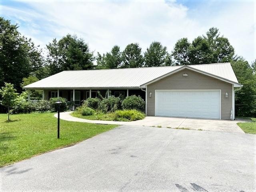
{"type": "MultiPolygon", "coordinates": [[[[221,132],[236,132],[244,133],[237,125],[238,122],[245,120],[212,120],[212,119],[191,119],[191,118],[174,118],[174,117],[155,117],[146,116],[142,120],[123,122],[123,121],[103,121],[103,120],[88,120],[77,118],[70,115],[72,111],[61,112],[60,119],[74,122],[86,122],[96,124],[113,124],[113,125],[133,125],[133,126],[150,126],[164,128],[188,128],[193,130],[206,131],[221,131],[221,132]]],[[[54,114],[57,118],[58,114],[54,114]]]]}

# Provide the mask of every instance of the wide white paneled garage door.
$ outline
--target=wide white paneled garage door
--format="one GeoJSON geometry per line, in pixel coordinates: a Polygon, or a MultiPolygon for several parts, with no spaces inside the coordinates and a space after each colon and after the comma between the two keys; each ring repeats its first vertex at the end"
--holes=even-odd
{"type": "Polygon", "coordinates": [[[156,90],[155,115],[220,119],[220,90],[156,90]]]}

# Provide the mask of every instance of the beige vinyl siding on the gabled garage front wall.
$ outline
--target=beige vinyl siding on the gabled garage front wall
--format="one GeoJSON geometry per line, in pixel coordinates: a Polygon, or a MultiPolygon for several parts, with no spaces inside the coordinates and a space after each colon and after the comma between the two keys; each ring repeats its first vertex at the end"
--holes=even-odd
{"type": "Polygon", "coordinates": [[[155,115],[155,90],[221,90],[221,118],[230,119],[232,84],[184,69],[147,86],[147,115],[155,115]],[[183,74],[188,74],[184,77],[183,74]],[[152,97],[149,97],[149,93],[152,97]],[[228,98],[225,97],[228,92],[228,98]]]}

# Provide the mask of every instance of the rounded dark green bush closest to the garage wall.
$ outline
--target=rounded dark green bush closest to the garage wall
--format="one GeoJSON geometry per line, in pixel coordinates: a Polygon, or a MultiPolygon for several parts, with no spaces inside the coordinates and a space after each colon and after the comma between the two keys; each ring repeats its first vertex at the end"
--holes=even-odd
{"type": "Polygon", "coordinates": [[[122,109],[136,109],[138,111],[144,112],[145,111],[145,102],[140,96],[128,96],[122,102],[122,109]]]}

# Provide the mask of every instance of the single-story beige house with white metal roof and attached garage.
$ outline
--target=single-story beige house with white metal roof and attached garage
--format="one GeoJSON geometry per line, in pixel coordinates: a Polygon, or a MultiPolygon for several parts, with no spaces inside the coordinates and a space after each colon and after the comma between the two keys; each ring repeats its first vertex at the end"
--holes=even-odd
{"type": "Polygon", "coordinates": [[[230,63],[63,71],[24,86],[43,90],[43,99],[60,96],[76,106],[98,91],[135,94],[146,101],[148,116],[228,120],[234,120],[234,94],[241,87],[230,63]]]}

